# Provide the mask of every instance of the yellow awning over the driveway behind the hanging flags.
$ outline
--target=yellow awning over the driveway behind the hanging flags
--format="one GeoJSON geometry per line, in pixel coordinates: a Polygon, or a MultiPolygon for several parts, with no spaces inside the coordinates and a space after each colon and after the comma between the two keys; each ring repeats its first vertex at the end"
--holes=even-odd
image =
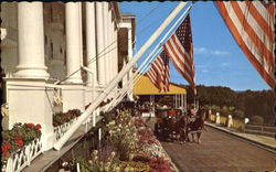
{"type": "MultiPolygon", "coordinates": [[[[138,74],[140,75],[140,74],[138,74]]],[[[142,75],[140,79],[134,86],[134,95],[176,95],[176,94],[187,94],[185,88],[171,83],[170,92],[159,93],[157,87],[150,82],[147,75],[142,75]]]]}

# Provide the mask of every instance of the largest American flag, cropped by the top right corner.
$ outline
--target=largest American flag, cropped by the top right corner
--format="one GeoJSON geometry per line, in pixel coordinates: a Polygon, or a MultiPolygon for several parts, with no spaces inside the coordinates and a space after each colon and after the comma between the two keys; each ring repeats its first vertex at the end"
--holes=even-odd
{"type": "Polygon", "coordinates": [[[275,87],[275,2],[216,1],[233,37],[259,75],[275,87]]]}

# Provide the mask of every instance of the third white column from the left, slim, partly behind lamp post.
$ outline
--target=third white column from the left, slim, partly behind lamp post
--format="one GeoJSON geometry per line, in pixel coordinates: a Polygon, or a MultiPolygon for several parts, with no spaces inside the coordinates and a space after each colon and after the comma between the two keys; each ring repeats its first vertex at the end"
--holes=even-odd
{"type": "Polygon", "coordinates": [[[95,25],[95,2],[86,2],[86,51],[87,51],[87,67],[94,73],[87,75],[88,86],[92,86],[92,77],[94,84],[97,83],[97,66],[96,66],[96,25],[95,25]]]}

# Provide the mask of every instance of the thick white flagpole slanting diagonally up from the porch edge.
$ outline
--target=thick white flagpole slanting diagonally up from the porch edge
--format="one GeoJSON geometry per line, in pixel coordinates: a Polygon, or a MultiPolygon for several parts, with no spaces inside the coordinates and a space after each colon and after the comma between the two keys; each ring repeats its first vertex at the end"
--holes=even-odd
{"type": "Polygon", "coordinates": [[[158,39],[162,31],[169,25],[169,23],[178,15],[178,13],[184,8],[188,2],[179,2],[176,9],[168,15],[168,18],[162,22],[162,24],[155,31],[149,40],[141,46],[141,49],[135,54],[135,56],[129,61],[129,63],[116,75],[116,77],[110,82],[110,84],[104,89],[104,92],[98,95],[92,105],[79,116],[79,118],[72,123],[68,130],[54,143],[54,149],[60,150],[64,143],[73,136],[73,133],[82,126],[82,123],[91,116],[91,114],[96,109],[96,107],[108,96],[108,94],[116,87],[118,82],[124,77],[126,73],[137,63],[141,55],[152,45],[152,43],[158,39]]]}

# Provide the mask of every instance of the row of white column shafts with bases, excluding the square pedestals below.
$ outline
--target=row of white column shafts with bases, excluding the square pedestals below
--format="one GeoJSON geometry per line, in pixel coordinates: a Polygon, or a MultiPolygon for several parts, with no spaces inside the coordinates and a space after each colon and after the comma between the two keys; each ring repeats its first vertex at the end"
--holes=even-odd
{"type": "MultiPolygon", "coordinates": [[[[98,82],[99,86],[106,86],[116,75],[116,65],[118,65],[117,49],[112,50],[117,46],[114,43],[117,40],[115,21],[112,21],[108,2],[85,3],[87,61],[88,68],[94,72],[88,74],[88,85],[93,78],[93,82],[98,82]],[[113,46],[105,50],[112,43],[114,43],[113,46]],[[95,61],[96,55],[98,63],[95,61]]],[[[18,25],[19,65],[14,75],[23,78],[49,78],[44,62],[43,3],[18,2],[18,25]]],[[[66,82],[82,84],[79,71],[83,65],[82,2],[65,3],[65,28],[66,66],[70,75],[66,82]]]]}

